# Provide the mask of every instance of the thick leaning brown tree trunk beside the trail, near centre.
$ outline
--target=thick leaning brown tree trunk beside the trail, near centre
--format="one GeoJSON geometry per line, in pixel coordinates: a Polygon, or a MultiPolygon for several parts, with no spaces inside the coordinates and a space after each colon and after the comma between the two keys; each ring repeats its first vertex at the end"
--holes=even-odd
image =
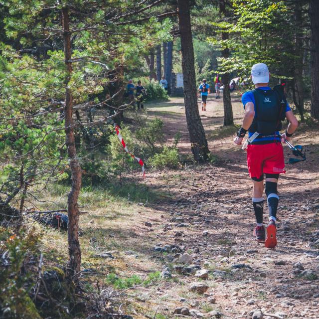
{"type": "Polygon", "coordinates": [[[208,159],[209,150],[200,120],[194,67],[194,49],[191,34],[189,0],[177,0],[178,24],[184,78],[184,104],[191,151],[198,162],[208,159]]]}

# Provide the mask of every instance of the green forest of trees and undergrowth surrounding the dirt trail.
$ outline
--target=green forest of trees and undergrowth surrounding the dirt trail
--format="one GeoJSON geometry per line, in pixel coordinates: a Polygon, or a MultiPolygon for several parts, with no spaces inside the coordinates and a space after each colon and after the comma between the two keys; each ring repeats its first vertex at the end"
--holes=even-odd
{"type": "Polygon", "coordinates": [[[0,1],[0,315],[46,318],[54,305],[57,318],[71,309],[94,312],[76,297],[92,294],[80,279],[79,219],[86,212],[79,196],[91,190],[152,200],[141,183],[141,166],[123,151],[115,124],[147,172],[186,163],[216,165],[197,87],[203,78],[213,87],[215,75],[221,75],[223,125],[235,132],[229,83],[237,77],[246,82],[238,86],[240,97],[252,87],[251,66],[263,62],[271,86],[286,83],[298,119],[317,125],[318,14],[316,0],[0,1]],[[170,84],[172,72],[184,75],[191,153],[179,152],[177,131],[167,143],[163,121],[149,119],[125,97],[133,79],[147,89],[146,107],[168,100],[159,80],[165,76],[170,84]],[[66,205],[46,199],[54,193],[67,198],[66,205]],[[46,257],[49,271],[67,283],[58,289],[64,297],[56,300],[41,277],[49,253],[34,219],[47,222],[64,212],[68,262],[46,257]]]}

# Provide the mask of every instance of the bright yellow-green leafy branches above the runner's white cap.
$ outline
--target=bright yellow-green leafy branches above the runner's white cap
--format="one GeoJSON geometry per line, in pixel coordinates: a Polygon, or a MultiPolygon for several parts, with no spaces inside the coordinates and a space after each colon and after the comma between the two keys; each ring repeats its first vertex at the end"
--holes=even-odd
{"type": "Polygon", "coordinates": [[[220,50],[229,48],[229,58],[218,58],[220,74],[250,74],[255,63],[266,63],[273,75],[289,76],[294,64],[293,28],[289,27],[291,8],[284,1],[232,0],[228,8],[234,19],[211,21],[215,34],[208,42],[220,50]],[[229,39],[221,40],[221,33],[229,39]],[[239,40],[240,39],[240,40],[239,40]]]}

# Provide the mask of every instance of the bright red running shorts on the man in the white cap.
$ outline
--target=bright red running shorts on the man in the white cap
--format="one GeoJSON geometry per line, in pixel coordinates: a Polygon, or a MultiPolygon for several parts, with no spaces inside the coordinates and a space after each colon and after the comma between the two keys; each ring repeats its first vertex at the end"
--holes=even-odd
{"type": "Polygon", "coordinates": [[[284,151],[281,143],[248,145],[247,164],[250,177],[264,173],[285,173],[284,151]]]}

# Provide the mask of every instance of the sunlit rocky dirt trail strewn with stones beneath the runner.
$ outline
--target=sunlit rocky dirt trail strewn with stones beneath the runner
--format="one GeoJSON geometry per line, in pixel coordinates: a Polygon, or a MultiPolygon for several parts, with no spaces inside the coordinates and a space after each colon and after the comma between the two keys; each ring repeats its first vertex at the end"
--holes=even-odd
{"type": "MultiPolygon", "coordinates": [[[[239,101],[233,103],[237,124],[243,113],[239,101]]],[[[127,311],[135,318],[152,319],[173,318],[178,307],[187,308],[176,310],[179,317],[252,318],[262,309],[267,319],[319,318],[318,134],[301,127],[293,140],[306,146],[308,160],[287,165],[280,178],[278,246],[269,250],[253,240],[245,153],[232,144],[235,128],[221,128],[222,100],[208,100],[207,111],[200,114],[209,149],[221,163],[147,172],[144,183],[149,189],[167,191],[170,197],[142,206],[116,224],[125,234],[122,244],[133,251],[118,252],[122,274],[145,278],[158,270],[166,278],[128,291],[127,311]],[[208,279],[195,276],[200,269],[208,279]],[[207,291],[191,291],[193,282],[207,285],[207,291]]],[[[148,115],[164,121],[168,139],[179,131],[180,151],[189,153],[181,98],[148,106],[148,115]]],[[[285,154],[288,159],[287,148],[285,154]]],[[[117,261],[110,265],[119,268],[117,261]]]]}

